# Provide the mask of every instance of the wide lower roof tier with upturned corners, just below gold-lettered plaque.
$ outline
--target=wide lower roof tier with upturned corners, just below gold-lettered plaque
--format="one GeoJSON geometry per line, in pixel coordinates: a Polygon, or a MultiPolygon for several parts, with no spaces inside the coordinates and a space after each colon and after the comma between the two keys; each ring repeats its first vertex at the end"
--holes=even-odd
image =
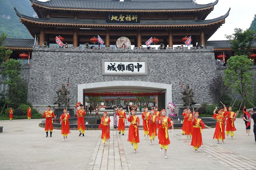
{"type": "Polygon", "coordinates": [[[95,19],[74,19],[74,18],[34,18],[23,14],[20,14],[15,8],[18,17],[25,20],[33,21],[35,23],[44,24],[66,24],[66,25],[80,25],[80,26],[165,26],[165,27],[180,27],[180,26],[205,26],[212,23],[218,23],[224,20],[230,12],[230,8],[227,13],[221,17],[211,20],[140,20],[140,23],[107,23],[106,20],[95,19]]]}

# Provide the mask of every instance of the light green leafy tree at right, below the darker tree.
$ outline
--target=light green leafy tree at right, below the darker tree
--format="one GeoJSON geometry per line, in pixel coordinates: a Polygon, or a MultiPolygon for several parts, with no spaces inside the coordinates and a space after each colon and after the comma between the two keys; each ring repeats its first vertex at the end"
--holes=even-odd
{"type": "Polygon", "coordinates": [[[230,57],[227,60],[227,69],[224,70],[225,76],[223,80],[225,85],[241,95],[244,106],[247,97],[253,94],[253,71],[251,71],[251,68],[252,62],[250,59],[242,55],[230,57]]]}

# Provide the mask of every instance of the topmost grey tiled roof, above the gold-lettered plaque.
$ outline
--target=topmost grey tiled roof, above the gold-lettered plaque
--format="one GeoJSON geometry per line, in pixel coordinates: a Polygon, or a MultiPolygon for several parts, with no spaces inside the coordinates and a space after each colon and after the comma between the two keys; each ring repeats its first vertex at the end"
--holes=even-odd
{"type": "Polygon", "coordinates": [[[41,2],[30,0],[33,4],[45,8],[101,9],[101,10],[200,10],[210,8],[218,3],[198,4],[195,0],[49,0],[41,2]]]}

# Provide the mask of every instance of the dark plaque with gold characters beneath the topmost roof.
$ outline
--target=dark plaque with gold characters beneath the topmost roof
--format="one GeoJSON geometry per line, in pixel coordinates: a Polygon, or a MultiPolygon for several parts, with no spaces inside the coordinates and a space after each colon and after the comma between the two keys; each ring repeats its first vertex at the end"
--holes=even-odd
{"type": "Polygon", "coordinates": [[[107,23],[140,23],[139,13],[106,13],[107,23]]]}

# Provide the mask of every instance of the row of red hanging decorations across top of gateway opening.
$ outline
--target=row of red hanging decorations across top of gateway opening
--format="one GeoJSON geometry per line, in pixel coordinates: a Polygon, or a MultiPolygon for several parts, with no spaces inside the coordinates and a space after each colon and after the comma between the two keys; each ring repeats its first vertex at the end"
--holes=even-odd
{"type": "Polygon", "coordinates": [[[90,92],[84,93],[85,96],[158,96],[164,94],[163,92],[146,92],[146,93],[136,93],[136,92],[90,92]]]}

